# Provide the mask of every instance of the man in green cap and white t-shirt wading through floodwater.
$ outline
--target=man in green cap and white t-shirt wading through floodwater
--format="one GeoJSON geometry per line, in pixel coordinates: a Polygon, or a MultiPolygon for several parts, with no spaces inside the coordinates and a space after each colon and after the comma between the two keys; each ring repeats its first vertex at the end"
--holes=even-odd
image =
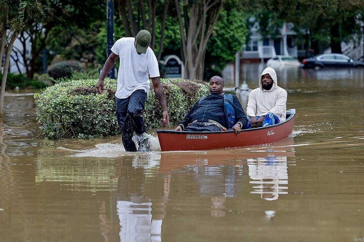
{"type": "Polygon", "coordinates": [[[97,91],[103,93],[104,79],[114,67],[116,59],[120,57],[115,93],[116,116],[126,151],[136,151],[135,144],[131,140],[134,131],[140,136],[138,140],[141,143],[147,140],[143,111],[150,89],[148,74],[163,110],[162,121],[169,128],[169,115],[160,83],[158,62],[153,50],[149,47],[150,43],[151,34],[147,30],[141,30],[135,38],[118,39],[111,48],[112,52],[105,62],[97,83],[97,91]]]}

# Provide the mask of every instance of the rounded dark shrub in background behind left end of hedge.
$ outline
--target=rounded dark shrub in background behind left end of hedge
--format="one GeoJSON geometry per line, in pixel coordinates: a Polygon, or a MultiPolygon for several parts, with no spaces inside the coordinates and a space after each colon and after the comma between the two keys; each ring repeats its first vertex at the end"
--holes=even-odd
{"type": "Polygon", "coordinates": [[[48,67],[47,73],[54,79],[70,77],[73,71],[81,69],[80,63],[77,61],[57,62],[48,67]]]}

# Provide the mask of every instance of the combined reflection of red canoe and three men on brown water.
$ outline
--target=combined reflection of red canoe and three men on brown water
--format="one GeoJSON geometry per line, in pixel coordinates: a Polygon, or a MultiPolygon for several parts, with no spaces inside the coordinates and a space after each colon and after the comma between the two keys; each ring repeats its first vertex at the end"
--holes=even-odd
{"type": "Polygon", "coordinates": [[[291,137],[245,149],[143,153],[132,160],[125,158],[118,180],[120,240],[161,241],[169,200],[175,207],[192,201],[205,208],[209,204],[212,217],[226,216],[229,199],[246,197],[245,191],[277,200],[287,194],[287,157],[294,153],[291,137]],[[253,186],[246,189],[247,185],[253,186]]]}

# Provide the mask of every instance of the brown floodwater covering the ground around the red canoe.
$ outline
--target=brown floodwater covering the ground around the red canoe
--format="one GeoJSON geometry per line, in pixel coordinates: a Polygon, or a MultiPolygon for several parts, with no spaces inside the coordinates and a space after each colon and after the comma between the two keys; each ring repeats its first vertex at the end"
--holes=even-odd
{"type": "Polygon", "coordinates": [[[292,137],[213,151],[33,139],[32,96],[5,97],[0,241],[364,241],[364,71],[277,73],[292,137]]]}

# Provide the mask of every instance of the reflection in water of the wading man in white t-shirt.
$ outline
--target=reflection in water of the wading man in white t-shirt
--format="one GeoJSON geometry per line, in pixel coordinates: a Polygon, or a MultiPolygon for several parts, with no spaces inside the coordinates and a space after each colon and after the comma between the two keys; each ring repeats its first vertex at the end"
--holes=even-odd
{"type": "Polygon", "coordinates": [[[144,165],[146,167],[140,161],[133,161],[132,165],[122,166],[117,201],[120,241],[162,240],[162,221],[166,215],[170,175],[146,177],[148,172],[145,170],[151,167],[150,164],[144,165]],[[156,187],[159,183],[161,186],[156,187]]]}

